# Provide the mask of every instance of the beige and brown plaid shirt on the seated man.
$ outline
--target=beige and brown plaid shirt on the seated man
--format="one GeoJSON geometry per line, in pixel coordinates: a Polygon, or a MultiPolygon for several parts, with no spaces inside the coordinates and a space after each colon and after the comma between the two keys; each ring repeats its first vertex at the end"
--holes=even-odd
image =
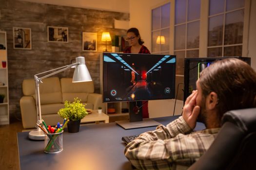
{"type": "Polygon", "coordinates": [[[141,170],[183,170],[192,165],[211,146],[219,128],[192,133],[182,117],[166,127],[145,132],[128,143],[124,154],[141,170]]]}

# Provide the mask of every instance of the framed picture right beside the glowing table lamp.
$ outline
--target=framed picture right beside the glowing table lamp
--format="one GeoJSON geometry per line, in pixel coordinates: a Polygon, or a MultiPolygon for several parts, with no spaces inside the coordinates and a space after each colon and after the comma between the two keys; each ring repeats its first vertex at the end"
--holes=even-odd
{"type": "Polygon", "coordinates": [[[97,33],[83,32],[82,51],[97,51],[97,33]]]}

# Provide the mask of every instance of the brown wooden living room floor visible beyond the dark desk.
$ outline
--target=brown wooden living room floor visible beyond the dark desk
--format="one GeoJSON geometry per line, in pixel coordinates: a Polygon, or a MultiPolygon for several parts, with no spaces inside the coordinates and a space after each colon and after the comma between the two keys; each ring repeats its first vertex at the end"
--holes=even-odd
{"type": "MultiPolygon", "coordinates": [[[[19,119],[19,118],[18,118],[19,119]]],[[[22,132],[22,122],[10,118],[10,124],[0,125],[0,170],[20,170],[17,133],[22,132]]],[[[109,122],[115,122],[126,117],[109,117],[109,122]]]]}

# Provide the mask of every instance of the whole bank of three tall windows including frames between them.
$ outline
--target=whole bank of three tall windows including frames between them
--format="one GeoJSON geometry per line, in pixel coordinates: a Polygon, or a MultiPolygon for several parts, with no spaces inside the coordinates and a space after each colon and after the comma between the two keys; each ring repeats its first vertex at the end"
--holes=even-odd
{"type": "MultiPolygon", "coordinates": [[[[184,58],[247,55],[251,0],[169,1],[152,10],[151,51],[176,55],[176,89],[183,83],[184,58]],[[157,43],[161,35],[166,44],[157,43]]],[[[183,100],[180,87],[177,94],[183,100]]]]}

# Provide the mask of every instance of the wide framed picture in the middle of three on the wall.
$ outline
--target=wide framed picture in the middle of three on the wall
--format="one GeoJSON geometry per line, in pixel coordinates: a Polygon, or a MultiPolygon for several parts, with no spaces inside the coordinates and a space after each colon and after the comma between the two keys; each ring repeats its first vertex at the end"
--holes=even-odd
{"type": "Polygon", "coordinates": [[[47,27],[48,42],[68,42],[68,28],[67,27],[47,27]]]}

